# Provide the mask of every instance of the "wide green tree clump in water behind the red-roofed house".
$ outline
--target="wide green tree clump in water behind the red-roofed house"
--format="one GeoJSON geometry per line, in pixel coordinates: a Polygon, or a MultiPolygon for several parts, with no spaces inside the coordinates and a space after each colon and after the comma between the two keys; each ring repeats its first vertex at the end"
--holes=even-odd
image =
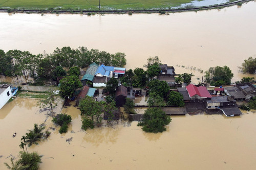
{"type": "Polygon", "coordinates": [[[216,66],[210,67],[209,70],[205,71],[205,81],[207,83],[214,83],[219,80],[224,81],[226,85],[231,83],[231,79],[233,78],[233,74],[228,66],[216,66]]]}

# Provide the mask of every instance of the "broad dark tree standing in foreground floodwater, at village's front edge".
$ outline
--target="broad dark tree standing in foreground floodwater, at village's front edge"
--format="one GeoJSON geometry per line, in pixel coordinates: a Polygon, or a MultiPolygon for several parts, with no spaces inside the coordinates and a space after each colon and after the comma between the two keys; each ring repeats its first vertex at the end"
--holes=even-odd
{"type": "Polygon", "coordinates": [[[168,125],[172,119],[158,107],[147,108],[143,115],[143,120],[138,124],[142,126],[145,132],[163,132],[166,131],[165,125],[168,125]]]}

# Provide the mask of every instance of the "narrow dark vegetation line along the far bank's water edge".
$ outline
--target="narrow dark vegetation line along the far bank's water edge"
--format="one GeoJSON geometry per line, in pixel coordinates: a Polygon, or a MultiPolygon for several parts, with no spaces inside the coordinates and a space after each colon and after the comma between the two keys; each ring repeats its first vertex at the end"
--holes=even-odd
{"type": "MultiPolygon", "coordinates": [[[[206,7],[196,7],[196,8],[180,8],[180,9],[163,9],[163,11],[166,12],[184,12],[184,11],[195,11],[195,10],[202,10],[202,9],[211,9],[211,8],[217,8],[217,7],[226,7],[238,3],[244,3],[244,2],[249,2],[251,0],[240,0],[236,2],[230,2],[226,4],[219,4],[219,5],[212,5],[212,6],[206,6],[206,7]]],[[[0,11],[8,12],[10,9],[0,9],[0,11]]],[[[24,10],[24,9],[13,9],[12,12],[97,12],[97,13],[116,13],[116,12],[159,12],[161,9],[156,9],[156,10],[24,10]]]]}

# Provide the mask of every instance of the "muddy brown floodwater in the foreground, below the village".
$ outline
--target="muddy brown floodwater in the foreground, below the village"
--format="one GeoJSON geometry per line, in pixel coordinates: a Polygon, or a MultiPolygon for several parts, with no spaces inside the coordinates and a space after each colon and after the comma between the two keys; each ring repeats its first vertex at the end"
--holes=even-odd
{"type": "MultiPolygon", "coordinates": [[[[3,162],[9,162],[6,157],[21,151],[18,145],[27,129],[32,129],[33,123],[45,122],[46,112],[38,111],[36,100],[22,98],[0,110],[0,169],[5,169],[3,162]]],[[[55,111],[60,112],[59,108],[55,111]]],[[[44,155],[40,169],[256,168],[256,116],[252,112],[239,117],[173,116],[167,131],[161,134],[144,133],[137,122],[84,132],[77,108],[71,106],[61,112],[72,116],[68,133],[50,130],[48,140],[28,149],[44,155]],[[71,137],[72,141],[66,142],[71,137]]],[[[45,124],[55,127],[51,117],[45,124]]]]}

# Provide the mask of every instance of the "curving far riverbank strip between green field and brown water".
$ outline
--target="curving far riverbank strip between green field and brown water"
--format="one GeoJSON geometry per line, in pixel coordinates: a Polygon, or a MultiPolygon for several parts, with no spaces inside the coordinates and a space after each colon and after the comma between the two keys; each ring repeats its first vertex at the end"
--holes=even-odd
{"type": "Polygon", "coordinates": [[[1,8],[0,11],[8,12],[8,13],[56,13],[56,14],[64,14],[64,13],[71,13],[71,14],[87,14],[87,15],[95,15],[95,14],[106,14],[106,13],[115,13],[115,14],[124,14],[128,13],[132,15],[133,13],[175,13],[175,12],[186,12],[186,11],[201,11],[201,10],[208,10],[208,9],[221,9],[228,6],[238,5],[241,6],[243,3],[253,1],[253,0],[239,0],[239,1],[231,1],[229,3],[224,4],[216,4],[210,6],[202,6],[196,7],[193,5],[186,5],[184,7],[176,6],[175,9],[170,7],[161,7],[161,8],[152,8],[152,9],[136,9],[136,8],[129,8],[129,9],[103,9],[103,10],[93,10],[93,9],[61,9],[61,8],[46,8],[46,9],[33,9],[33,8],[24,8],[24,9],[17,9],[17,8],[1,8]]]}

